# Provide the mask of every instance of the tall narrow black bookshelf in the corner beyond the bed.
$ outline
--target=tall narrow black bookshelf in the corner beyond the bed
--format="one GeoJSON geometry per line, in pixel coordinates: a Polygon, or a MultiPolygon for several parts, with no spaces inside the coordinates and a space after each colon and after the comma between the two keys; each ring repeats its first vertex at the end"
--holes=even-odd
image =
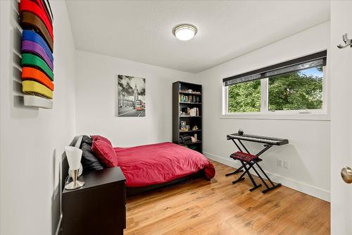
{"type": "Polygon", "coordinates": [[[189,147],[203,152],[203,123],[202,123],[202,87],[199,84],[172,83],[172,142],[177,145],[189,147]],[[183,112],[183,113],[181,113],[183,112]],[[185,121],[188,130],[181,129],[181,122],[185,121]],[[197,126],[197,130],[193,130],[197,126]],[[184,135],[196,136],[196,142],[182,143],[180,138],[184,135]]]}

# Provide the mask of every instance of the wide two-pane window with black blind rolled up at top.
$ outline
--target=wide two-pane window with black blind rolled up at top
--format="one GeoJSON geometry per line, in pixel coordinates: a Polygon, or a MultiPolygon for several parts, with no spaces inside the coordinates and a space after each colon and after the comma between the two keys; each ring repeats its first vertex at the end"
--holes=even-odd
{"type": "Polygon", "coordinates": [[[225,114],[325,109],[326,51],[223,80],[225,114]]]}

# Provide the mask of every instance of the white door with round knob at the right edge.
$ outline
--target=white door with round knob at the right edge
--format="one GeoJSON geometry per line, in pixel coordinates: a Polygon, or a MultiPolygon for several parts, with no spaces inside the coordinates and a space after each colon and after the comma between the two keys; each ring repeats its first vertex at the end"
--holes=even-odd
{"type": "Polygon", "coordinates": [[[352,185],[341,168],[352,167],[352,49],[338,49],[342,35],[352,37],[352,1],[331,2],[331,225],[332,234],[352,234],[352,185]]]}

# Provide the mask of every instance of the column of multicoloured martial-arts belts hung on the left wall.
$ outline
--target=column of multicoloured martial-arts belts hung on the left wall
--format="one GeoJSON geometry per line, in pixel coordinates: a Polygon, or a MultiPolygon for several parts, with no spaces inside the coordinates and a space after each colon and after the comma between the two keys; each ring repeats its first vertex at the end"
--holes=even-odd
{"type": "Polygon", "coordinates": [[[49,1],[20,0],[24,105],[52,109],[54,92],[53,14],[49,1]]]}

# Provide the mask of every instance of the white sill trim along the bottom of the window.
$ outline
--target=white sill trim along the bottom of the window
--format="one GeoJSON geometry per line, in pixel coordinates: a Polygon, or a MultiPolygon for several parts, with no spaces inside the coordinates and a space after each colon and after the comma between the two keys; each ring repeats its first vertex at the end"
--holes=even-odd
{"type": "Polygon", "coordinates": [[[265,119],[265,120],[313,120],[330,121],[326,112],[311,112],[300,114],[298,112],[261,112],[261,113],[232,113],[220,114],[220,119],[265,119]]]}

